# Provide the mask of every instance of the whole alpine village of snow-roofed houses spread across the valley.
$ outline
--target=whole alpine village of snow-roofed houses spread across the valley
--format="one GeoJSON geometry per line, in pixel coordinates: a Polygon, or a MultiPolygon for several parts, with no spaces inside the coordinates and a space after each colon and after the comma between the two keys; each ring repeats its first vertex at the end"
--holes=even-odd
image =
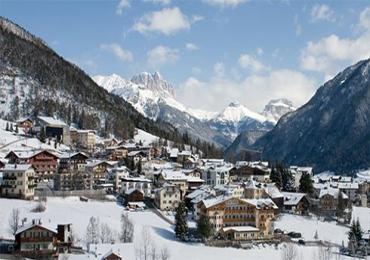
{"type": "MultiPolygon", "coordinates": [[[[246,247],[283,241],[305,245],[299,232],[274,228],[282,213],[351,225],[352,207],[368,207],[366,178],[314,174],[311,167],[279,162],[233,164],[203,158],[194,147],[148,138],[139,129],[132,140],[101,138],[94,130],[38,116],[6,122],[3,130],[18,139],[0,147],[1,197],[36,200],[36,212],[45,210],[48,197],[77,196],[82,201],[109,197],[127,211],[155,212],[174,225],[177,238],[185,243],[246,247]],[[45,145],[27,144],[35,138],[45,145]],[[191,222],[195,226],[189,227],[191,222]]],[[[75,245],[73,223],[50,226],[40,219],[20,221],[16,211],[9,214],[14,235],[8,241],[9,254],[30,258],[84,254],[96,243],[91,238],[86,248],[75,245]]],[[[360,236],[359,229],[354,223],[340,253],[366,254],[369,235],[362,230],[360,236]]],[[[101,259],[125,256],[110,249],[101,259]]]]}

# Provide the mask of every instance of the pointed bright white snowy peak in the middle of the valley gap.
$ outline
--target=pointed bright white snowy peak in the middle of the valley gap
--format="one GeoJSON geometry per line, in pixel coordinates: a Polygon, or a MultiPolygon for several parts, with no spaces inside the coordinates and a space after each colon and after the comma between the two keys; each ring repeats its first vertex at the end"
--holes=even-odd
{"type": "Polygon", "coordinates": [[[220,114],[217,115],[217,120],[240,122],[250,118],[259,122],[266,121],[266,118],[256,112],[249,110],[239,102],[231,102],[220,114]]]}

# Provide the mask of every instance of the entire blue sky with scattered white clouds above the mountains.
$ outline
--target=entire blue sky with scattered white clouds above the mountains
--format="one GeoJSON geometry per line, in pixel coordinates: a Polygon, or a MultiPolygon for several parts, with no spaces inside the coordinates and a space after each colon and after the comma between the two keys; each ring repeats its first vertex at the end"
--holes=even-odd
{"type": "Polygon", "coordinates": [[[193,108],[302,105],[370,56],[368,1],[0,0],[5,16],[88,74],[159,71],[193,108]]]}

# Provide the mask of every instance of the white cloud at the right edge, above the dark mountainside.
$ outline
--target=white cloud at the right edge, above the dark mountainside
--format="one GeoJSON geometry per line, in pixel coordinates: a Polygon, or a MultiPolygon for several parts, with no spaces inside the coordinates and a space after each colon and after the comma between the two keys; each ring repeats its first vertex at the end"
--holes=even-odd
{"type": "Polygon", "coordinates": [[[322,72],[331,78],[345,67],[370,57],[370,8],[359,16],[363,30],[355,38],[341,38],[335,34],[317,42],[310,41],[301,52],[300,65],[305,70],[322,72]]]}

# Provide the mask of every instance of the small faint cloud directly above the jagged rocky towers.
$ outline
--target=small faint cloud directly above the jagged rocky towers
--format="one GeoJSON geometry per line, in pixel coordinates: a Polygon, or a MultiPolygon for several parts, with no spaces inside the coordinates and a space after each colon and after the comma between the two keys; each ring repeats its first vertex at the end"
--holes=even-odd
{"type": "Polygon", "coordinates": [[[175,63],[179,59],[179,51],[159,45],[147,52],[147,62],[153,68],[175,63]]]}

